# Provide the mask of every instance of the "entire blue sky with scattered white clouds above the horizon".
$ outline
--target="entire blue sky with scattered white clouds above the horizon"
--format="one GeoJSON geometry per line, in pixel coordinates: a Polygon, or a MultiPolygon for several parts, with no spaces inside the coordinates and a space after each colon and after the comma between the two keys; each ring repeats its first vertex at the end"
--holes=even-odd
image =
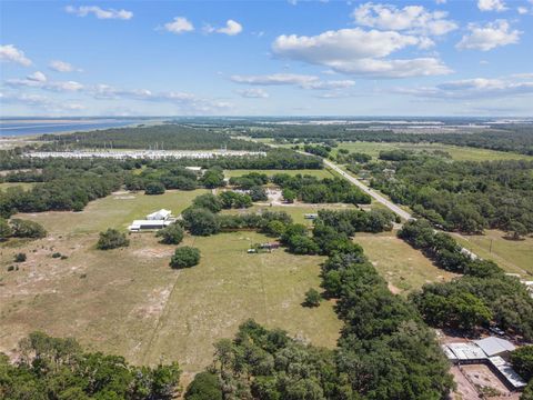
{"type": "Polygon", "coordinates": [[[532,117],[533,0],[0,0],[19,116],[532,117]]]}

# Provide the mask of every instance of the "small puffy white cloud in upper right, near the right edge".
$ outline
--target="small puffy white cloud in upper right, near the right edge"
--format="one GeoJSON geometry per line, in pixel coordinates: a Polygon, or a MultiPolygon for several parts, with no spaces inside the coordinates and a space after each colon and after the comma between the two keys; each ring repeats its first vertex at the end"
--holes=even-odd
{"type": "Polygon", "coordinates": [[[519,30],[511,30],[506,20],[496,20],[483,27],[470,23],[469,30],[470,33],[463,36],[455,46],[457,49],[489,51],[496,47],[517,43],[522,33],[519,30]]]}

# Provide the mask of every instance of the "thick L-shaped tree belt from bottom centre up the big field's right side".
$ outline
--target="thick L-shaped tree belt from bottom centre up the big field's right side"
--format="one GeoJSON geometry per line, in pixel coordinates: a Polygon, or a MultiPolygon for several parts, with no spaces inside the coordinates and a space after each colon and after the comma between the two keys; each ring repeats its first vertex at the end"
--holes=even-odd
{"type": "Polygon", "coordinates": [[[323,287],[326,297],[336,299],[335,311],[344,323],[338,349],[303,344],[284,331],[247,321],[234,340],[215,344],[213,364],[197,376],[187,400],[447,396],[453,380],[434,334],[412,304],[389,291],[346,233],[361,229],[361,219],[328,211],[316,220],[313,237],[292,223],[281,232],[289,246],[290,237],[306,238],[316,252],[329,254],[322,267],[323,287]]]}

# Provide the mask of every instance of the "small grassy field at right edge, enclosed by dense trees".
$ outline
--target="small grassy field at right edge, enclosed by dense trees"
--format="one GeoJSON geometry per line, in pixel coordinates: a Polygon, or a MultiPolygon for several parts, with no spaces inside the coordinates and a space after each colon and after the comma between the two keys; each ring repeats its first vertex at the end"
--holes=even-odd
{"type": "Polygon", "coordinates": [[[502,231],[487,229],[485,234],[454,234],[454,238],[481,258],[494,260],[507,272],[521,273],[524,278],[533,274],[533,238],[507,240],[504,234],[502,231]]]}

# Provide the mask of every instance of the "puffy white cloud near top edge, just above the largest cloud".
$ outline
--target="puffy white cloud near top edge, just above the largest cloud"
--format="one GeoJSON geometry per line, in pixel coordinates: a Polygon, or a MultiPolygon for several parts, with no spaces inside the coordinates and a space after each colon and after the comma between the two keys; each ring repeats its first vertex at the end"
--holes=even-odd
{"type": "Polygon", "coordinates": [[[402,9],[392,4],[359,6],[352,13],[355,22],[381,30],[418,32],[442,36],[457,29],[454,21],[447,20],[445,11],[428,11],[422,6],[406,6],[402,9]]]}

